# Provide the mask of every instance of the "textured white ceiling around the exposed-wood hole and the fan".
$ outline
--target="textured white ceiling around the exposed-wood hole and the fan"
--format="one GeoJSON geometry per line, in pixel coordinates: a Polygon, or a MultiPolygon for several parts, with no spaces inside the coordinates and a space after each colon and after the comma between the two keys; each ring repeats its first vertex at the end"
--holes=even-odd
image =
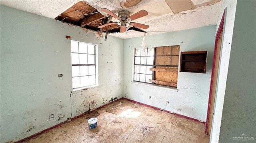
{"type": "MultiPolygon", "coordinates": [[[[79,0],[1,0],[1,4],[48,18],[55,18],[78,1],[79,0]]],[[[212,0],[191,1],[194,5],[197,5],[212,0]]],[[[117,14],[118,10],[123,9],[120,6],[120,2],[123,2],[123,0],[85,0],[85,2],[98,11],[100,11],[100,8],[108,8],[117,14]]],[[[148,16],[134,20],[134,22],[149,25],[149,28],[145,31],[147,31],[148,34],[155,34],[216,25],[221,4],[222,1],[174,14],[165,0],[143,0],[137,6],[128,8],[127,10],[130,11],[130,14],[134,14],[142,9],[148,11],[148,16]]],[[[104,12],[101,13],[105,15],[104,12]]],[[[126,39],[143,36],[144,33],[132,31],[126,33],[112,33],[110,35],[126,39]]]]}

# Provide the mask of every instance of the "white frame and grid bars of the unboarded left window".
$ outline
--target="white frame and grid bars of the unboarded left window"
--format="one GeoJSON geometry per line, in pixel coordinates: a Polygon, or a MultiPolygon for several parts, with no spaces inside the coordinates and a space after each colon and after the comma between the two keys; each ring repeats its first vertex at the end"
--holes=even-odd
{"type": "Polygon", "coordinates": [[[95,74],[89,74],[89,68],[88,68],[88,75],[84,75],[84,76],[95,76],[95,84],[92,84],[92,85],[88,85],[88,86],[79,86],[79,87],[76,87],[76,88],[73,88],[73,78],[74,77],[79,77],[80,78],[80,84],[81,84],[81,77],[84,77],[84,76],[73,76],[72,75],[72,91],[77,91],[77,90],[83,90],[83,89],[86,89],[86,88],[90,88],[90,87],[95,87],[95,86],[98,86],[98,45],[97,44],[93,44],[93,43],[86,43],[86,42],[82,42],[82,41],[76,41],[76,40],[70,40],[70,54],[71,54],[71,69],[72,67],[75,67],[75,66],[79,66],[79,73],[80,73],[80,66],[95,66],[95,74]],[[72,52],[71,51],[71,42],[78,42],[78,52],[72,52]],[[79,43],[84,43],[86,44],[86,53],[79,53],[80,49],[79,49],[79,46],[80,44],[79,43]],[[94,54],[90,54],[88,53],[88,44],[90,45],[94,45],[94,54]],[[87,62],[88,62],[88,55],[94,55],[94,64],[72,64],[72,53],[76,53],[78,54],[78,61],[80,63],[80,58],[79,58],[79,54],[85,54],[87,55],[87,62]]]}

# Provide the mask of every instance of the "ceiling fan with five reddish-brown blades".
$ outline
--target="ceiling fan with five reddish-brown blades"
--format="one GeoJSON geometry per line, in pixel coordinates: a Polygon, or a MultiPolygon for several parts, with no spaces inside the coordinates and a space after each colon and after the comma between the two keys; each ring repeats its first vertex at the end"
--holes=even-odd
{"type": "Polygon", "coordinates": [[[106,12],[107,14],[116,18],[120,22],[112,22],[112,23],[103,24],[103,25],[98,26],[98,28],[102,28],[102,27],[112,25],[112,24],[120,24],[121,25],[120,32],[125,32],[127,24],[134,26],[134,27],[142,28],[142,29],[148,29],[148,27],[149,27],[148,25],[145,25],[145,24],[131,22],[132,20],[136,20],[143,16],[147,16],[148,12],[146,10],[140,10],[139,12],[137,12],[131,16],[130,16],[130,12],[128,10],[120,10],[118,12],[118,16],[106,8],[101,8],[100,10],[102,10],[103,12],[106,12]]]}

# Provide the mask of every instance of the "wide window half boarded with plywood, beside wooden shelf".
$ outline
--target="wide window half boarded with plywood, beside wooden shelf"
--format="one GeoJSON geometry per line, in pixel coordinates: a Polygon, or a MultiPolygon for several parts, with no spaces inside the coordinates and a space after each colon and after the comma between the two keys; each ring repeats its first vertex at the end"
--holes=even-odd
{"type": "Polygon", "coordinates": [[[177,87],[180,46],[134,49],[134,81],[177,87]]]}

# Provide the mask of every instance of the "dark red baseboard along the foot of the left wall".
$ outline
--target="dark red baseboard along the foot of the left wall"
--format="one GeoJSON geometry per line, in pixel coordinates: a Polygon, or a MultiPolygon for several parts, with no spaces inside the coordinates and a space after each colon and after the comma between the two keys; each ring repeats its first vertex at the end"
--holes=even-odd
{"type": "MultiPolygon", "coordinates": [[[[113,102],[116,102],[116,101],[118,101],[118,100],[121,100],[121,99],[123,99],[123,97],[122,97],[122,98],[119,98],[119,99],[116,99],[116,100],[113,100],[113,101],[111,101],[111,102],[108,102],[107,104],[104,104],[104,105],[102,105],[102,106],[100,106],[100,107],[98,107],[98,108],[94,108],[93,110],[90,110],[90,112],[92,112],[92,111],[94,111],[94,110],[97,110],[97,109],[100,109],[100,108],[103,108],[103,107],[105,107],[105,106],[107,106],[107,105],[109,105],[109,104],[111,104],[111,103],[113,103],[113,102]]],[[[26,140],[28,140],[28,139],[32,139],[33,137],[36,137],[36,136],[38,136],[38,135],[41,135],[42,133],[45,133],[46,131],[50,131],[51,129],[54,129],[54,128],[56,128],[56,127],[59,127],[60,125],[63,125],[64,123],[68,123],[69,121],[72,121],[72,120],[74,120],[74,119],[80,118],[80,117],[84,116],[85,114],[88,114],[88,112],[84,112],[83,114],[80,114],[80,115],[78,115],[78,116],[76,116],[76,117],[73,117],[73,118],[69,118],[69,119],[67,119],[66,121],[62,122],[62,123],[59,123],[59,124],[57,124],[57,125],[54,125],[54,126],[52,126],[52,127],[49,127],[49,128],[47,128],[47,129],[44,129],[44,130],[42,130],[42,131],[40,131],[40,132],[38,132],[38,133],[35,133],[35,134],[30,135],[30,136],[28,136],[28,137],[25,137],[24,139],[20,139],[19,141],[15,141],[14,143],[20,143],[20,142],[22,142],[22,141],[26,141],[26,140]]]]}

